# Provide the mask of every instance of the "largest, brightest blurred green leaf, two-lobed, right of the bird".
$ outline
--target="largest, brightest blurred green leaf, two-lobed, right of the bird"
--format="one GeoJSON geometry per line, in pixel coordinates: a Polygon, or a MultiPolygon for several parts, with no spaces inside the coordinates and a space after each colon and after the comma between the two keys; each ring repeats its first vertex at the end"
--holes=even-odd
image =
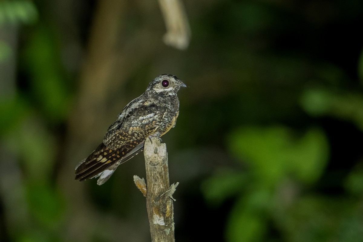
{"type": "Polygon", "coordinates": [[[317,180],[329,153],[325,134],[315,128],[299,137],[287,127],[243,127],[227,142],[231,153],[250,164],[258,180],[268,186],[291,175],[307,183],[317,180]]]}

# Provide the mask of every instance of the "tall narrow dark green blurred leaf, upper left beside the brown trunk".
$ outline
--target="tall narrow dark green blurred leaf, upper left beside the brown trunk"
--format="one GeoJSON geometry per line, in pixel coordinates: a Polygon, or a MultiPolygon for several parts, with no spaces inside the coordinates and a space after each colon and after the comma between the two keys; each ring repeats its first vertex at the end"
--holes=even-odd
{"type": "Polygon", "coordinates": [[[33,31],[23,58],[30,75],[32,97],[48,118],[53,121],[64,119],[72,88],[67,85],[61,69],[56,38],[46,26],[38,26],[33,31]]]}

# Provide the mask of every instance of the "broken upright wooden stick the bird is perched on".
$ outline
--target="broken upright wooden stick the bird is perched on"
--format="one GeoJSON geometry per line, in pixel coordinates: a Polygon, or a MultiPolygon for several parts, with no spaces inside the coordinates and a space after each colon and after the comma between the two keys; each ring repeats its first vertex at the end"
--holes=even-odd
{"type": "MultiPolygon", "coordinates": [[[[147,189],[144,179],[134,176],[139,190],[146,194],[146,208],[152,242],[174,242],[173,193],[176,184],[169,185],[166,144],[151,136],[144,144],[147,189]]],[[[175,201],[175,200],[174,200],[175,201]]]]}

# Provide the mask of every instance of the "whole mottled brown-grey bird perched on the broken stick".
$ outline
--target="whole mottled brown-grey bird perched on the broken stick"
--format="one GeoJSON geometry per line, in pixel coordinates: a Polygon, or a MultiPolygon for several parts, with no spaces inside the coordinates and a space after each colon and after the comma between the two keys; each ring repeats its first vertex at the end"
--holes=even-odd
{"type": "Polygon", "coordinates": [[[162,136],[175,126],[179,114],[180,87],[174,75],[159,75],[146,91],[123,108],[106,132],[103,142],[76,167],[76,180],[99,177],[105,183],[119,164],[131,159],[144,147],[145,140],[162,136]]]}

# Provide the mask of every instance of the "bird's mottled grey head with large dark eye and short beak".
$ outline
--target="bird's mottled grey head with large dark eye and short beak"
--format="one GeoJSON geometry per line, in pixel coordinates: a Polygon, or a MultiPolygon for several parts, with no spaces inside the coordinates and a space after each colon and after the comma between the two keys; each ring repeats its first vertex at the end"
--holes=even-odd
{"type": "Polygon", "coordinates": [[[175,95],[180,87],[187,87],[185,84],[174,75],[162,74],[150,82],[146,91],[155,91],[163,95],[175,95]]]}

